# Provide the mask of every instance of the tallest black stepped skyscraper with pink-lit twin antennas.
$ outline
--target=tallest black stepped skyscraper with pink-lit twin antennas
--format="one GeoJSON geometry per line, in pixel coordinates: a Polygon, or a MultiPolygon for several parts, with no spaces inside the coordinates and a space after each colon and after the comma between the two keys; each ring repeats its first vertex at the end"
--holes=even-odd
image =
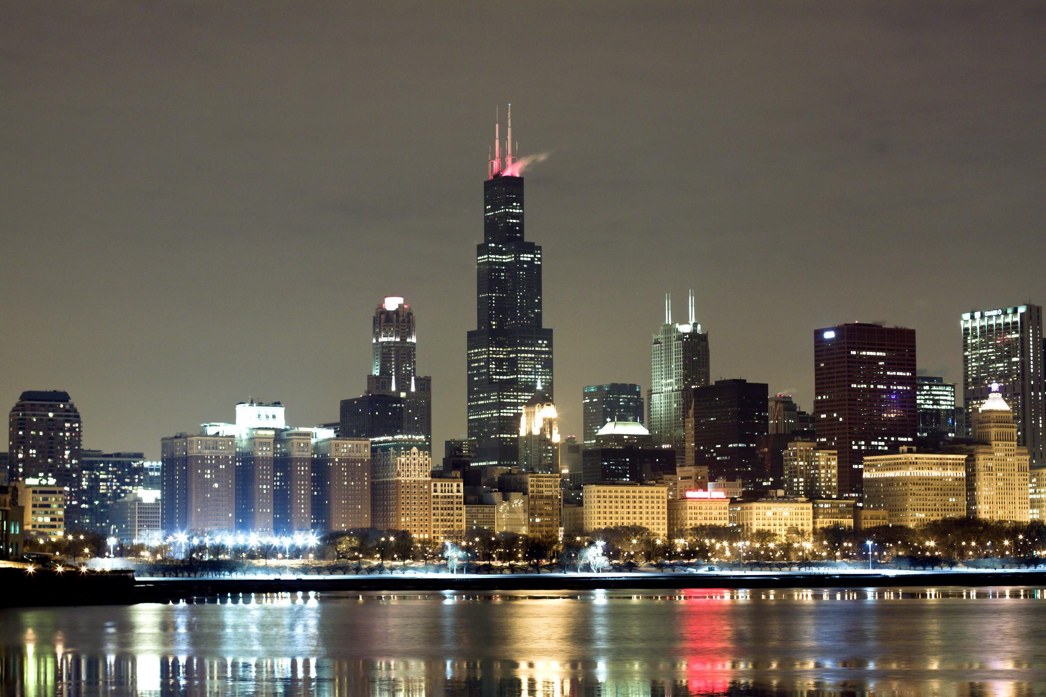
{"type": "Polygon", "coordinates": [[[505,156],[499,125],[483,182],[483,241],[476,247],[476,324],[469,332],[469,438],[475,465],[518,464],[523,404],[552,394],[552,330],[541,324],[541,247],[523,238],[525,160],[505,156]]]}

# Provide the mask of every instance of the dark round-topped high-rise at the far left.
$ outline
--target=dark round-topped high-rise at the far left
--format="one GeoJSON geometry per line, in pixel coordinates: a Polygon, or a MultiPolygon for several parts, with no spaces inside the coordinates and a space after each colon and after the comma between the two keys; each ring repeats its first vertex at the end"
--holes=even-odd
{"type": "Polygon", "coordinates": [[[23,392],[8,417],[10,481],[53,479],[68,488],[68,503],[77,503],[82,435],[79,412],[68,392],[23,392]]]}

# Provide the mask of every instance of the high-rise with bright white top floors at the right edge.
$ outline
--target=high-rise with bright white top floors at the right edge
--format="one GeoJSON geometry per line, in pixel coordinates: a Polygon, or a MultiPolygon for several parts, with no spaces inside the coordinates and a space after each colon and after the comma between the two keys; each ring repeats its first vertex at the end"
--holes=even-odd
{"type": "Polygon", "coordinates": [[[992,386],[1014,410],[1017,444],[1032,464],[1046,464],[1046,378],[1043,309],[1018,305],[965,312],[962,326],[962,401],[976,414],[992,386]]]}

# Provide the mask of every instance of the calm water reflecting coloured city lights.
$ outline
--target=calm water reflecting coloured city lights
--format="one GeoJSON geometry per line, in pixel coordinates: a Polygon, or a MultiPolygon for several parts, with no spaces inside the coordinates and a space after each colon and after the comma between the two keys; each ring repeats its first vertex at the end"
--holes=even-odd
{"type": "Polygon", "coordinates": [[[4,695],[1046,694],[1036,588],[250,596],[0,611],[4,695]]]}

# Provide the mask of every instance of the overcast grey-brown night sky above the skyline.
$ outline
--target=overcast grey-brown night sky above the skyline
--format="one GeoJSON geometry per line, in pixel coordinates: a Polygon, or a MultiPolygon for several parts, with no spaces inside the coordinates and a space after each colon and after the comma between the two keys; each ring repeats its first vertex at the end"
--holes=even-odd
{"type": "Polygon", "coordinates": [[[465,431],[496,104],[544,247],[561,431],[650,384],[688,287],[713,378],[812,408],[813,330],[1046,303],[1042,3],[0,5],[0,388],[145,450],[248,397],[338,416],[386,295],[434,455],[465,431]]]}

